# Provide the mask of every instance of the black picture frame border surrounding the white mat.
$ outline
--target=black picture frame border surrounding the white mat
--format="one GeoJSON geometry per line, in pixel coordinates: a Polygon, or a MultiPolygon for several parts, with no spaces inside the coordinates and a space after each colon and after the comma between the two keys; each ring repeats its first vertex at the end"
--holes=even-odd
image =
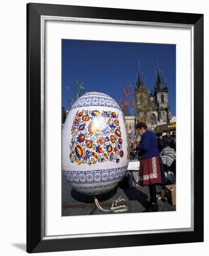
{"type": "Polygon", "coordinates": [[[203,242],[203,14],[27,4],[27,252],[203,242]],[[120,236],[44,236],[41,173],[41,16],[190,24],[194,33],[194,230],[120,236]]]}

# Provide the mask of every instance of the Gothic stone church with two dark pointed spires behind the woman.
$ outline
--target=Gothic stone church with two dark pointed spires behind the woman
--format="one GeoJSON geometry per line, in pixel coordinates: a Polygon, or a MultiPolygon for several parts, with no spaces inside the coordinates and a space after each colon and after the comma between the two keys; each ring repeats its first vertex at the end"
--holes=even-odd
{"type": "MultiPolygon", "coordinates": [[[[149,110],[151,111],[151,118],[150,122],[147,123],[148,129],[153,130],[158,125],[164,125],[169,124],[171,121],[171,112],[170,112],[170,106],[168,102],[168,86],[167,81],[165,78],[165,82],[163,80],[162,71],[160,71],[159,67],[157,68],[157,71],[155,72],[155,85],[153,93],[151,92],[147,97],[148,101],[152,104],[150,104],[151,107],[149,107],[149,110]]],[[[127,123],[127,129],[129,136],[135,136],[135,126],[139,122],[139,120],[136,120],[137,115],[142,115],[142,113],[138,113],[137,106],[140,104],[139,97],[137,97],[137,94],[139,93],[139,89],[141,87],[146,88],[146,82],[143,78],[143,73],[140,71],[140,68],[137,72],[136,77],[136,84],[135,84],[135,98],[136,98],[136,113],[135,116],[130,115],[129,109],[123,108],[123,114],[125,115],[126,123],[127,123]]],[[[146,111],[145,111],[146,112],[146,111]]],[[[146,113],[143,113],[143,115],[146,115],[146,113]]]]}

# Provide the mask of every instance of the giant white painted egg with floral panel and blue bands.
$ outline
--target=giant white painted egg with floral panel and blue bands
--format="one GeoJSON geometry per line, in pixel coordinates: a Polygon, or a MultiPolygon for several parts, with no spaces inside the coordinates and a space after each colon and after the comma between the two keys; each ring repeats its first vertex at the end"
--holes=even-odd
{"type": "Polygon", "coordinates": [[[128,165],[125,119],[118,103],[96,92],[72,106],[62,134],[62,169],[78,192],[99,195],[114,189],[128,165]]]}

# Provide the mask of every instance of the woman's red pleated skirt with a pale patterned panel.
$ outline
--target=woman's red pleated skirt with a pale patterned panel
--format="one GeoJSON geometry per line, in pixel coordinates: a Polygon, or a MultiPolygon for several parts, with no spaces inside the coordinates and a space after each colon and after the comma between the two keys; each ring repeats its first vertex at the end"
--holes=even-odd
{"type": "Polygon", "coordinates": [[[139,181],[140,186],[161,183],[159,156],[140,160],[139,181]]]}

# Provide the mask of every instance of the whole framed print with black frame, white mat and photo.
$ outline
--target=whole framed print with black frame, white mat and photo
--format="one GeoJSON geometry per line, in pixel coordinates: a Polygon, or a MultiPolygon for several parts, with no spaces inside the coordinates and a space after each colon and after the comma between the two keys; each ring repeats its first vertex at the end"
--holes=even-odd
{"type": "Polygon", "coordinates": [[[203,14],[27,4],[27,252],[203,242],[203,14]]]}

